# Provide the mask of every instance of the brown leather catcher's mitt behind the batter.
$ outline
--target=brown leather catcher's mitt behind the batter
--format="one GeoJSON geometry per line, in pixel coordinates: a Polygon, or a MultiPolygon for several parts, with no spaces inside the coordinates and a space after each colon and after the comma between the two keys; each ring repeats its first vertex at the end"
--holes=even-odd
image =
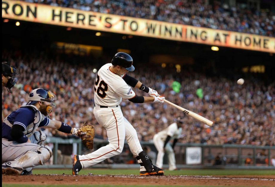
{"type": "Polygon", "coordinates": [[[77,131],[77,135],[81,138],[82,142],[86,145],[88,149],[94,148],[94,126],[91,124],[82,124],[82,126],[77,131]]]}

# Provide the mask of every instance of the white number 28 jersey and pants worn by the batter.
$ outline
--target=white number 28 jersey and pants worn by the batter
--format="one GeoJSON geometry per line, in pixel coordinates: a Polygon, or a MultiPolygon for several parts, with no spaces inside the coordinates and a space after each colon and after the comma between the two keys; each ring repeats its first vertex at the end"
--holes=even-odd
{"type": "Polygon", "coordinates": [[[120,102],[135,97],[135,92],[126,84],[121,76],[110,70],[111,63],[103,65],[97,73],[94,87],[94,116],[107,131],[109,144],[98,150],[79,155],[82,168],[99,163],[106,158],[120,154],[125,139],[132,154],[137,157],[143,151],[134,127],[123,117],[120,102]]]}

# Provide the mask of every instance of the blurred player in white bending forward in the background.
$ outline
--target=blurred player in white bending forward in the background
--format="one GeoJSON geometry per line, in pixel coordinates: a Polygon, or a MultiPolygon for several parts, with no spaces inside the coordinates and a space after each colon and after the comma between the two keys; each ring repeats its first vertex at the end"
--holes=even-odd
{"type": "Polygon", "coordinates": [[[182,123],[183,121],[180,117],[178,117],[177,122],[172,123],[166,129],[160,131],[158,134],[155,134],[153,137],[154,145],[158,150],[156,162],[157,167],[162,168],[164,152],[166,152],[168,154],[169,170],[177,169],[174,147],[181,136],[182,123]],[[170,140],[174,140],[172,146],[169,143],[170,140]]]}

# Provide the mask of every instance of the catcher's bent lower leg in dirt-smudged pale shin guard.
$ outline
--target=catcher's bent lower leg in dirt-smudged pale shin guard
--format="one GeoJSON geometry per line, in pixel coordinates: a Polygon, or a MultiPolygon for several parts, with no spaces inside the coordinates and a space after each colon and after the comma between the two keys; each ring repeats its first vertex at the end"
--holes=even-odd
{"type": "Polygon", "coordinates": [[[38,150],[27,151],[24,155],[17,158],[16,160],[3,163],[2,168],[4,166],[23,170],[36,165],[43,165],[50,159],[51,155],[51,148],[42,145],[38,150]]]}

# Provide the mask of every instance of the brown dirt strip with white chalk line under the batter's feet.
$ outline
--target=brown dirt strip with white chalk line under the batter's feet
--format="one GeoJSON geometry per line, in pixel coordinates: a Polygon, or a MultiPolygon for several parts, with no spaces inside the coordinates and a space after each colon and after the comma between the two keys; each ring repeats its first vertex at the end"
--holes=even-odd
{"type": "Polygon", "coordinates": [[[171,185],[171,186],[275,186],[273,176],[214,177],[214,176],[137,176],[137,175],[2,175],[2,184],[31,185],[171,185]]]}

